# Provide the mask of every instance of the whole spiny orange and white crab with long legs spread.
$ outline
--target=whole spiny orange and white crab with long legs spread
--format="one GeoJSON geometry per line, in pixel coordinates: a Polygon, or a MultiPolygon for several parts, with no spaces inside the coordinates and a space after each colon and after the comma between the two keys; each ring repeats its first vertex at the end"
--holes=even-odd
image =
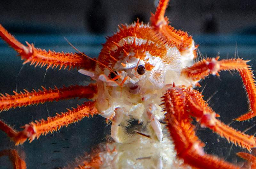
{"type": "MultiPolygon", "coordinates": [[[[183,159],[184,164],[202,169],[239,168],[204,153],[204,143],[195,135],[195,127],[191,124],[190,117],[195,117],[201,127],[212,129],[229,142],[248,151],[256,147],[255,137],[236,131],[216,119],[219,115],[205,103],[202,94],[193,87],[209,74],[219,76],[219,71],[237,70],[248,93],[250,111],[236,120],[247,120],[256,116],[256,88],[252,70],[246,64],[247,61],[240,58],[220,61],[219,57],[207,58],[194,63],[197,46],[186,32],[177,31],[168,25],[168,18],[164,17],[167,4],[168,0],[160,0],[156,13],[152,14],[151,24],[137,21],[131,25],[119,26],[117,33],[107,38],[98,59],[91,59],[81,52],[56,53],[35,48],[33,44],[27,43],[28,46],[24,46],[0,25],[0,36],[19,53],[21,59],[25,60],[24,64],[30,62],[35,66],[47,65],[46,69],[57,66],[60,66],[60,69],[68,66],[69,69],[82,68],[78,70],[80,73],[96,81],[88,86],[75,85],[49,90],[43,88],[42,91],[33,92],[25,90],[14,92],[14,95],[1,94],[1,111],[76,97],[93,101],[85,102],[55,117],[48,117],[47,120],[26,124],[20,132],[14,131],[2,121],[0,129],[17,145],[27,139],[31,142],[41,134],[53,132],[89,115],[100,114],[107,120],[112,120],[111,137],[120,143],[119,147],[117,143],[113,143],[116,149],[95,153],[91,156],[91,161],[85,161],[83,166],[100,168],[101,165],[110,163],[113,166],[116,153],[121,151],[120,147],[127,142],[135,142],[134,138],[140,139],[132,137],[131,141],[131,137],[126,133],[124,128],[128,126],[129,119],[143,122],[148,130],[153,130],[148,131],[152,136],[152,143],[168,140],[167,134],[163,133],[164,125],[159,122],[165,120],[177,157],[183,159]],[[111,158],[107,159],[106,156],[111,158]]],[[[148,142],[142,139],[142,143],[148,142]]],[[[252,155],[242,152],[237,155],[248,160],[251,168],[256,165],[252,155]]],[[[162,158],[159,157],[157,168],[166,166],[162,158]]]]}

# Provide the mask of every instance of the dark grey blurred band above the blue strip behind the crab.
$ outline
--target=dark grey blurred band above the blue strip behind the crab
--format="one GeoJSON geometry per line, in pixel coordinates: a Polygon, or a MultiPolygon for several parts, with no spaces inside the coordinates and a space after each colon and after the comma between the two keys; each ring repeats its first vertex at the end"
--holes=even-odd
{"type": "MultiPolygon", "coordinates": [[[[0,20],[16,33],[116,32],[120,23],[149,21],[155,0],[2,1],[0,20]]],[[[255,1],[172,0],[166,15],[190,34],[255,33],[255,1]]]]}

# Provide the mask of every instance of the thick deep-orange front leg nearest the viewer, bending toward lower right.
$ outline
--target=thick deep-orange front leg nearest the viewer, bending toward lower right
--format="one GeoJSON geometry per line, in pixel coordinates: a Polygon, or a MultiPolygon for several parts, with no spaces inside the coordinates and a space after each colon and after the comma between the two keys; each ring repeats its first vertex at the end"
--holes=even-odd
{"type": "Polygon", "coordinates": [[[174,141],[177,156],[184,159],[185,164],[200,169],[238,169],[239,167],[235,165],[204,153],[204,143],[195,135],[195,127],[189,118],[189,114],[193,115],[189,112],[194,110],[189,109],[186,102],[185,88],[172,87],[163,96],[164,110],[167,112],[167,127],[174,141]]]}

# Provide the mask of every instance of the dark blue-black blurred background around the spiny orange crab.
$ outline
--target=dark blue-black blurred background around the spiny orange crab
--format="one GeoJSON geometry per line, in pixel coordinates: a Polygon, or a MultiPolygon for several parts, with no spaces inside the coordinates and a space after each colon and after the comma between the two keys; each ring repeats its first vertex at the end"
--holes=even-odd
{"type": "MultiPolygon", "coordinates": [[[[137,18],[148,23],[150,12],[155,12],[154,0],[91,0],[91,1],[34,1],[3,0],[0,2],[0,23],[21,43],[34,43],[46,50],[75,52],[64,39],[66,37],[76,48],[91,57],[97,57],[105,36],[116,32],[118,24],[130,24],[137,18]]],[[[199,44],[204,56],[220,55],[221,59],[242,57],[251,60],[255,70],[256,56],[256,1],[249,0],[172,0],[166,11],[171,25],[187,31],[199,44]]],[[[0,41],[0,93],[12,94],[26,89],[61,87],[62,85],[87,85],[89,78],[76,70],[34,68],[22,65],[16,52],[0,41]]],[[[241,78],[236,72],[223,72],[220,77],[210,76],[201,82],[205,87],[205,100],[229,124],[232,119],[248,111],[246,94],[241,78]]],[[[11,109],[0,113],[0,119],[20,130],[30,121],[46,119],[66,108],[76,107],[86,99],[52,102],[44,105],[11,109]]],[[[231,126],[245,130],[255,119],[232,122],[231,126]]],[[[195,124],[197,125],[197,124],[195,124]]],[[[17,149],[26,158],[27,168],[59,168],[74,161],[84,152],[110,135],[110,125],[102,117],[84,119],[68,128],[41,136],[32,143],[14,146],[5,133],[0,131],[0,151],[17,149]]],[[[252,128],[247,133],[254,134],[252,128]]],[[[208,129],[198,127],[198,136],[206,143],[205,151],[228,161],[239,160],[234,154],[245,151],[225,139],[219,138],[208,129]]],[[[0,169],[12,168],[7,157],[0,158],[0,169]]]]}

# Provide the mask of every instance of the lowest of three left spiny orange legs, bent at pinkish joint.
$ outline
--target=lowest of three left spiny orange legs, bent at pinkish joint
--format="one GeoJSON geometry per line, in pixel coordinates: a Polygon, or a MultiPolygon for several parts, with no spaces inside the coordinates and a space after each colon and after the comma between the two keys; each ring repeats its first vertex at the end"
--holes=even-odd
{"type": "Polygon", "coordinates": [[[46,135],[49,132],[57,131],[63,126],[82,120],[84,117],[89,117],[97,114],[98,111],[94,106],[95,102],[84,102],[82,106],[68,110],[66,113],[57,114],[54,117],[48,117],[47,120],[39,120],[31,122],[21,127],[23,131],[16,132],[0,121],[0,129],[7,133],[7,136],[15,142],[15,145],[24,143],[27,138],[32,142],[35,138],[41,135],[46,135]]]}

